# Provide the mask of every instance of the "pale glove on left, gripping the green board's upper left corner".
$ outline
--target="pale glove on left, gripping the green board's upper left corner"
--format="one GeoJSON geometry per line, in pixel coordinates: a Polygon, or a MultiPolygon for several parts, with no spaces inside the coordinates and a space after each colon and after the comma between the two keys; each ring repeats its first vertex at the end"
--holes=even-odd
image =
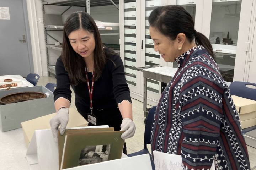
{"type": "Polygon", "coordinates": [[[50,120],[50,126],[52,128],[53,138],[55,142],[58,142],[58,128],[60,127],[60,134],[63,135],[63,133],[66,130],[66,125],[68,124],[68,114],[69,109],[68,108],[61,108],[57,111],[57,115],[55,115],[50,120]]]}

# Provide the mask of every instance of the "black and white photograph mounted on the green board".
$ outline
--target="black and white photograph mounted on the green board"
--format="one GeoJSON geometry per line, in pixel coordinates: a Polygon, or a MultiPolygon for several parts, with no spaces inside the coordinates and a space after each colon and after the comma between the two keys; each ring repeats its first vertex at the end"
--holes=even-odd
{"type": "Polygon", "coordinates": [[[86,146],[81,150],[79,164],[89,165],[108,161],[110,145],[86,146]]]}

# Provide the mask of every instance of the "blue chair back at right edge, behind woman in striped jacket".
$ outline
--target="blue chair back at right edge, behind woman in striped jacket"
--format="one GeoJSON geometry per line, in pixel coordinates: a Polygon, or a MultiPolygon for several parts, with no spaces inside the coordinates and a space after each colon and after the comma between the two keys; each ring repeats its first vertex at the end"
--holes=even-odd
{"type": "Polygon", "coordinates": [[[246,87],[247,85],[255,86],[254,83],[233,82],[229,86],[231,95],[236,95],[250,100],[256,100],[256,89],[246,87]]]}

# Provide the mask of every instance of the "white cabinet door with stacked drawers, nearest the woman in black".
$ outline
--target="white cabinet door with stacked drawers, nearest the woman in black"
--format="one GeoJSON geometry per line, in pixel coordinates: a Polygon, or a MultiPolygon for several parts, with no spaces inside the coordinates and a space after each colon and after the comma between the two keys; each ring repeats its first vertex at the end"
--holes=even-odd
{"type": "Polygon", "coordinates": [[[126,82],[131,92],[140,93],[140,1],[119,2],[120,55],[124,63],[126,82]]]}

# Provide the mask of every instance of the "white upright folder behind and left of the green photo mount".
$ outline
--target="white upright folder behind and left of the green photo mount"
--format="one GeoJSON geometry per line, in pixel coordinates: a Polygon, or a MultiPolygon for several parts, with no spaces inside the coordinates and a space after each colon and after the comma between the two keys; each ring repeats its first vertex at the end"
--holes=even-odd
{"type": "MultiPolygon", "coordinates": [[[[66,129],[108,128],[105,126],[73,127],[66,129]]],[[[36,130],[26,153],[31,170],[59,170],[58,143],[54,142],[52,130],[36,130]]]]}

